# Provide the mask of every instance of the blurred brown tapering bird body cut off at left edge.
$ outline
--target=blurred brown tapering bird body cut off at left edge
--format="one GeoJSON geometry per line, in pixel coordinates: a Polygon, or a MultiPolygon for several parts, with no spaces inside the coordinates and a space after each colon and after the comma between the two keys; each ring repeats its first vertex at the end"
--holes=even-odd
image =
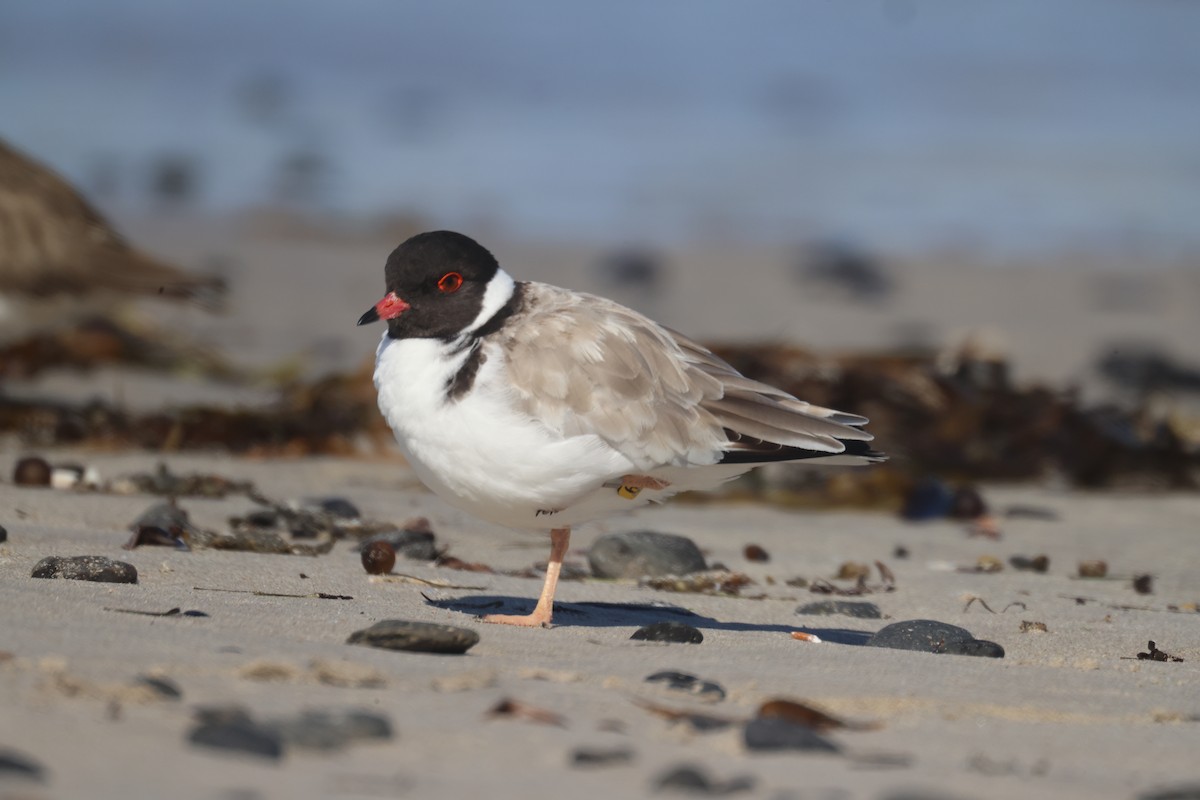
{"type": "Polygon", "coordinates": [[[131,245],[66,180],[0,139],[0,339],[136,297],[218,311],[224,281],[131,245]]]}

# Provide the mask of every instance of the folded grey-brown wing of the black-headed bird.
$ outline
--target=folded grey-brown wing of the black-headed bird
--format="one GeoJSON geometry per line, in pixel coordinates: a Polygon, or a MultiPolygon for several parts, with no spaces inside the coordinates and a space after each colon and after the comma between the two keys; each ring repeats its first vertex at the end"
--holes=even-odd
{"type": "Polygon", "coordinates": [[[840,453],[871,439],[865,419],[751,380],[610,300],[539,283],[524,297],[498,335],[505,366],[523,410],[562,435],[598,435],[647,469],[713,464],[755,440],[840,453]]]}

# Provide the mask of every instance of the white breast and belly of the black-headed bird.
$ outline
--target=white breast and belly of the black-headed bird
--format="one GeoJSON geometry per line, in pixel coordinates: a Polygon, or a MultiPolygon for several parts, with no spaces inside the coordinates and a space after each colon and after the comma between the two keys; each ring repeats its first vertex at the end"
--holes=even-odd
{"type": "Polygon", "coordinates": [[[472,390],[448,399],[445,387],[469,350],[386,335],[379,344],[379,409],[426,486],[469,513],[512,528],[544,530],[634,507],[612,488],[601,489],[632,463],[598,437],[563,438],[517,411],[502,354],[482,347],[472,390]],[[595,507],[594,498],[606,494],[612,507],[595,507]]]}

